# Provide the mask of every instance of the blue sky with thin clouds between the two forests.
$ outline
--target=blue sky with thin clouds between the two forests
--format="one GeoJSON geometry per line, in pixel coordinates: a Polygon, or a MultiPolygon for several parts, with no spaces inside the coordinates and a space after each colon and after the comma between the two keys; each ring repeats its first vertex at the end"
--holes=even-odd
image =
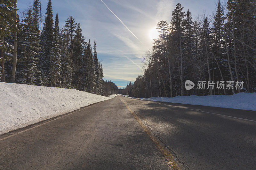
{"type": "MultiPolygon", "coordinates": [[[[192,17],[204,11],[215,11],[217,0],[103,0],[140,41],[109,11],[101,0],[52,0],[53,15],[59,14],[60,27],[68,16],[80,22],[84,37],[93,42],[96,38],[99,60],[104,69],[104,79],[120,87],[142,73],[141,58],[152,47],[150,31],[157,21],[170,22],[177,3],[192,17]]],[[[42,0],[43,14],[48,0],[42,0]]],[[[18,0],[18,8],[24,11],[33,0],[18,0]]],[[[154,31],[153,31],[154,32],[154,31]]]]}

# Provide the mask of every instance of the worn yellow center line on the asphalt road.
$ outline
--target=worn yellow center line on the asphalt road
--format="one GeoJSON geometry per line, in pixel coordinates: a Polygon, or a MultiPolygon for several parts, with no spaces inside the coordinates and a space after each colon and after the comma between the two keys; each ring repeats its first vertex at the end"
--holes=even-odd
{"type": "Polygon", "coordinates": [[[128,110],[131,112],[131,114],[135,117],[135,119],[139,122],[144,132],[154,142],[154,144],[156,145],[156,148],[164,155],[168,165],[171,166],[172,169],[180,169],[180,167],[176,163],[176,159],[172,156],[172,154],[168,151],[168,149],[164,147],[164,144],[162,144],[162,142],[154,136],[154,134],[148,129],[148,127],[140,120],[140,118],[132,111],[132,109],[126,104],[126,102],[121,97],[120,99],[124,103],[124,105],[128,108],[128,110]]]}

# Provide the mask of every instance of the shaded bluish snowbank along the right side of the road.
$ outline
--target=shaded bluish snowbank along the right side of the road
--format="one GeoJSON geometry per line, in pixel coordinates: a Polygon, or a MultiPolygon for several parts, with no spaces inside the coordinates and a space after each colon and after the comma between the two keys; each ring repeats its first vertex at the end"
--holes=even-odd
{"type": "MultiPolygon", "coordinates": [[[[124,95],[125,97],[128,97],[124,95]]],[[[132,97],[129,97],[132,98],[132,97]]],[[[132,98],[140,100],[163,101],[170,103],[181,103],[191,105],[225,107],[243,110],[256,111],[256,93],[237,93],[234,95],[209,95],[209,96],[176,96],[168,97],[151,97],[151,98],[132,98]]]]}

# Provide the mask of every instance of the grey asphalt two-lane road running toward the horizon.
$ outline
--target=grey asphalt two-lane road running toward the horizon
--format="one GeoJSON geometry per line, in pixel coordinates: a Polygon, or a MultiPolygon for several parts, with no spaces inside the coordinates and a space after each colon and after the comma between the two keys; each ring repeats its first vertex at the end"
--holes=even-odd
{"type": "Polygon", "coordinates": [[[116,96],[0,136],[0,169],[255,168],[255,111],[116,96]]]}

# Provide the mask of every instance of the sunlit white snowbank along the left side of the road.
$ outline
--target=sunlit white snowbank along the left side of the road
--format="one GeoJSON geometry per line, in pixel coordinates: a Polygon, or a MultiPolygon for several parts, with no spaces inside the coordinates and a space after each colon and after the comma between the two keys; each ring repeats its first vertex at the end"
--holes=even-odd
{"type": "Polygon", "coordinates": [[[108,100],[74,89],[0,83],[0,134],[108,100]]]}

